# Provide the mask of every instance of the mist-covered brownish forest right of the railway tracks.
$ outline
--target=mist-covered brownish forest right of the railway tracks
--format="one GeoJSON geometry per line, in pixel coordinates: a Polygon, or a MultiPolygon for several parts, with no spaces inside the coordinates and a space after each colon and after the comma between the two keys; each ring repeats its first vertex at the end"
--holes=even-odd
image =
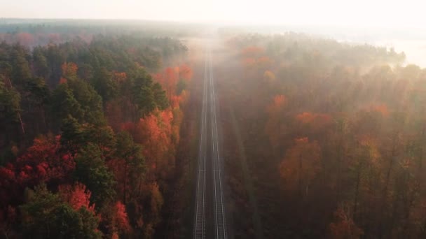
{"type": "Polygon", "coordinates": [[[426,69],[291,32],[217,54],[235,238],[426,237],[426,69]]]}

